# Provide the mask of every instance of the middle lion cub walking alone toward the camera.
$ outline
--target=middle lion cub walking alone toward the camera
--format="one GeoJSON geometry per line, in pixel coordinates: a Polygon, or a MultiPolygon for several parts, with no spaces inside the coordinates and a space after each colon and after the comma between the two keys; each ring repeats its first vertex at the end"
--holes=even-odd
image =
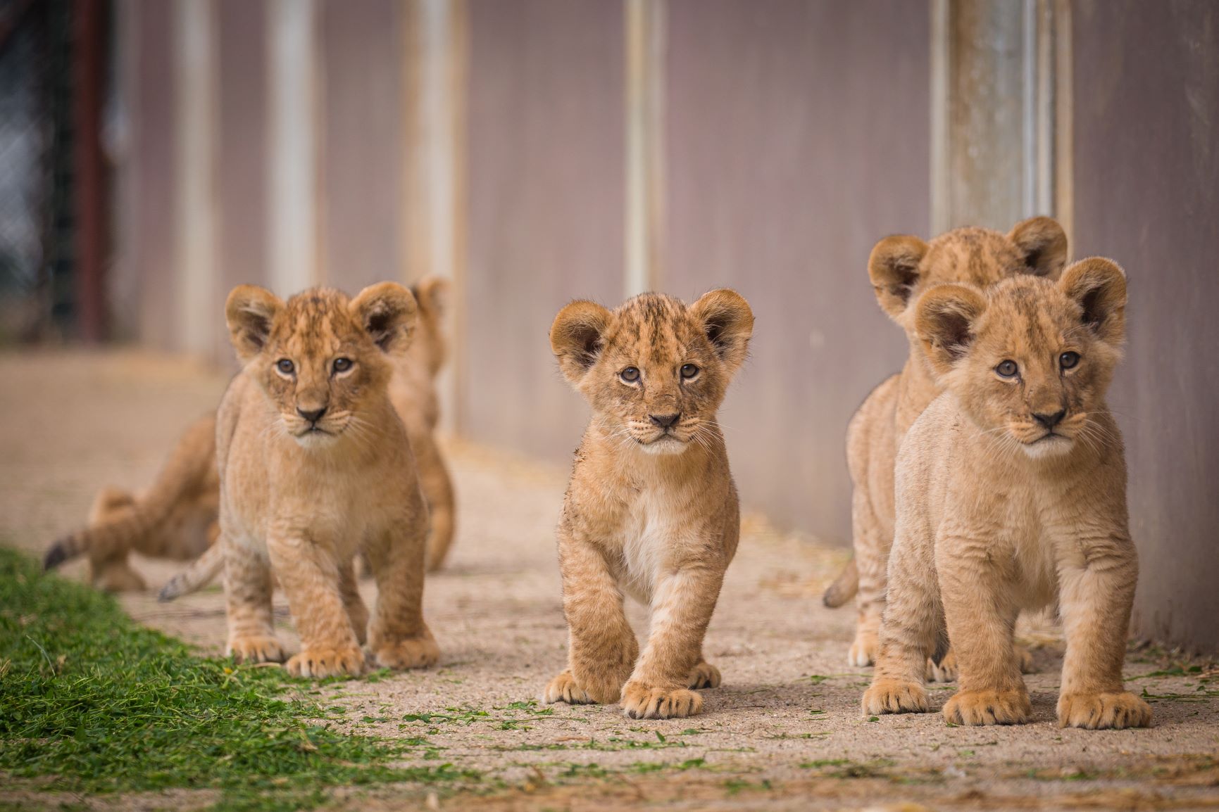
{"type": "Polygon", "coordinates": [[[740,511],[716,410],[753,313],[730,290],[694,304],[644,293],[563,308],[550,343],[592,419],[558,525],[569,666],[545,702],[616,702],[631,718],[692,716],[719,685],[702,656],[740,511]],[[642,655],[623,593],[651,606],[642,655]]]}

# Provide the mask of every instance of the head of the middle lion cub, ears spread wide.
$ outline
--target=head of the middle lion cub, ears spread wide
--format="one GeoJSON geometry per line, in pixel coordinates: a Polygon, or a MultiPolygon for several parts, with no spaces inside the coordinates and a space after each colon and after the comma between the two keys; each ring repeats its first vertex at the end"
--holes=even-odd
{"type": "Polygon", "coordinates": [[[611,437],[650,454],[680,454],[714,424],[752,334],[753,312],[734,291],[711,291],[689,306],[642,293],[616,310],[572,302],[555,318],[550,346],[611,437]]]}

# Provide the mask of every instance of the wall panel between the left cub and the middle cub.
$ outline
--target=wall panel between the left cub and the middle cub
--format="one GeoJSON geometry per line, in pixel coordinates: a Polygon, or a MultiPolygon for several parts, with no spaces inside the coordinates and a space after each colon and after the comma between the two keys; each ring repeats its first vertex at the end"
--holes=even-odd
{"type": "Polygon", "coordinates": [[[572,298],[623,291],[623,11],[617,2],[469,4],[466,281],[458,426],[551,459],[586,408],[550,354],[572,298]]]}

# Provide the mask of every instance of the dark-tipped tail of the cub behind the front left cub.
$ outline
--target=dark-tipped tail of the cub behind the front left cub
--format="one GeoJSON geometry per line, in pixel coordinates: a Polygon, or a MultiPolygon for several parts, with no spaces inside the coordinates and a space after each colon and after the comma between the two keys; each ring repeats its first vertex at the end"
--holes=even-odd
{"type": "Polygon", "coordinates": [[[133,499],[106,489],[83,527],[57,539],[46,550],[43,567],[51,570],[78,555],[93,561],[121,558],[161,527],[185,494],[197,489],[216,465],[216,418],[194,422],[178,441],[147,493],[133,499]]]}

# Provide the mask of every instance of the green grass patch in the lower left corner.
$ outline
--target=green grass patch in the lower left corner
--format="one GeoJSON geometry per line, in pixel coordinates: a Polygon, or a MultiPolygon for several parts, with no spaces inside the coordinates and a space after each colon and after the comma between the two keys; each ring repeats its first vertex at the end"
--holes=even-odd
{"type": "Polygon", "coordinates": [[[217,808],[307,808],[327,786],[474,780],[346,735],[280,668],[236,667],[0,548],[0,772],[69,793],[219,789],[217,808]]]}

